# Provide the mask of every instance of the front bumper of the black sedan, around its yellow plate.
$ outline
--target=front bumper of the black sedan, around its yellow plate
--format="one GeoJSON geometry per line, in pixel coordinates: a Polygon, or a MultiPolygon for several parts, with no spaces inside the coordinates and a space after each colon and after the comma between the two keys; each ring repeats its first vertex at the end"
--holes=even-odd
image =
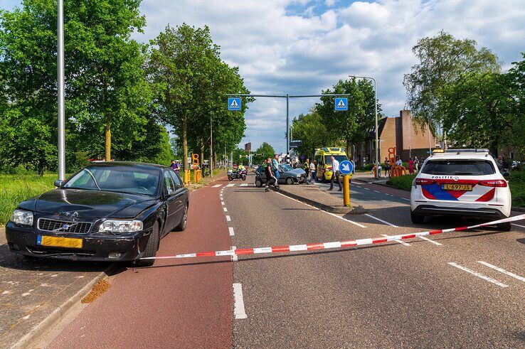
{"type": "Polygon", "coordinates": [[[100,233],[64,234],[40,232],[34,230],[33,227],[21,227],[14,225],[13,222],[8,222],[6,240],[12,252],[27,256],[90,261],[129,261],[142,255],[149,239],[149,232],[144,230],[125,236],[100,233]],[[37,244],[38,235],[75,237],[83,240],[83,246],[80,249],[41,246],[37,244]]]}

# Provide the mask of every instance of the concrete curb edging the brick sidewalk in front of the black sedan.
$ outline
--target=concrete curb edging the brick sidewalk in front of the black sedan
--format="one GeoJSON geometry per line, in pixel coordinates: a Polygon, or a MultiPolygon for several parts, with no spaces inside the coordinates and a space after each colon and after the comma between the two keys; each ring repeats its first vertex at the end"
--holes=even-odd
{"type": "Polygon", "coordinates": [[[11,348],[28,348],[31,347],[34,343],[37,343],[38,340],[43,339],[43,337],[49,332],[50,329],[54,328],[60,321],[65,318],[65,315],[74,308],[80,299],[88,294],[93,286],[97,284],[100,279],[103,279],[107,276],[107,273],[116,269],[117,264],[111,264],[104,272],[100,272],[94,279],[92,279],[88,284],[86,284],[82,289],[78,290],[73,296],[70,297],[63,304],[55,308],[51,314],[44,318],[38,325],[31,328],[31,331],[26,333],[18,342],[14,343],[11,348]]]}

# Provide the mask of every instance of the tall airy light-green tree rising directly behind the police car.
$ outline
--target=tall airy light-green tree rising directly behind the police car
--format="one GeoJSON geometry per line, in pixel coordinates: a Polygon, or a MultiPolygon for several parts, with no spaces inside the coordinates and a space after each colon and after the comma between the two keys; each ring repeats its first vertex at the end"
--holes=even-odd
{"type": "Polygon", "coordinates": [[[408,104],[422,127],[428,123],[433,129],[441,129],[444,146],[447,129],[443,107],[447,102],[442,89],[464,73],[500,70],[497,55],[488,48],[478,50],[476,45],[474,40],[456,39],[440,31],[432,38],[420,38],[412,48],[419,63],[403,79],[408,104]]]}

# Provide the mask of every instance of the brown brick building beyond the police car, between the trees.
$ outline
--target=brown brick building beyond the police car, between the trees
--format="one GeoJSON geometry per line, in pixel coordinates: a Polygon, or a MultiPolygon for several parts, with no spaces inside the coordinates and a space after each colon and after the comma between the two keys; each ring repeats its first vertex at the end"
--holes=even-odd
{"type": "MultiPolygon", "coordinates": [[[[355,161],[363,166],[373,163],[376,158],[376,132],[371,130],[370,138],[355,147],[355,161]],[[361,162],[362,161],[362,162],[361,162]]],[[[410,156],[425,159],[429,149],[436,148],[434,134],[428,133],[428,128],[421,129],[412,119],[410,110],[401,110],[399,117],[385,117],[378,122],[379,159],[381,162],[388,157],[388,149],[395,147],[396,156],[408,161],[410,156]]]]}

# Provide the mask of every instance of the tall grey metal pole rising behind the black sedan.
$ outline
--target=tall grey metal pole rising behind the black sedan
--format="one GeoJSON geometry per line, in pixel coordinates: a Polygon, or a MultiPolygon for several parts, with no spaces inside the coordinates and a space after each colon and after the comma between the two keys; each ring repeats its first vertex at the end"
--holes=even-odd
{"type": "Polygon", "coordinates": [[[64,117],[64,4],[58,0],[57,16],[58,65],[58,179],[65,179],[65,117],[64,117]]]}

